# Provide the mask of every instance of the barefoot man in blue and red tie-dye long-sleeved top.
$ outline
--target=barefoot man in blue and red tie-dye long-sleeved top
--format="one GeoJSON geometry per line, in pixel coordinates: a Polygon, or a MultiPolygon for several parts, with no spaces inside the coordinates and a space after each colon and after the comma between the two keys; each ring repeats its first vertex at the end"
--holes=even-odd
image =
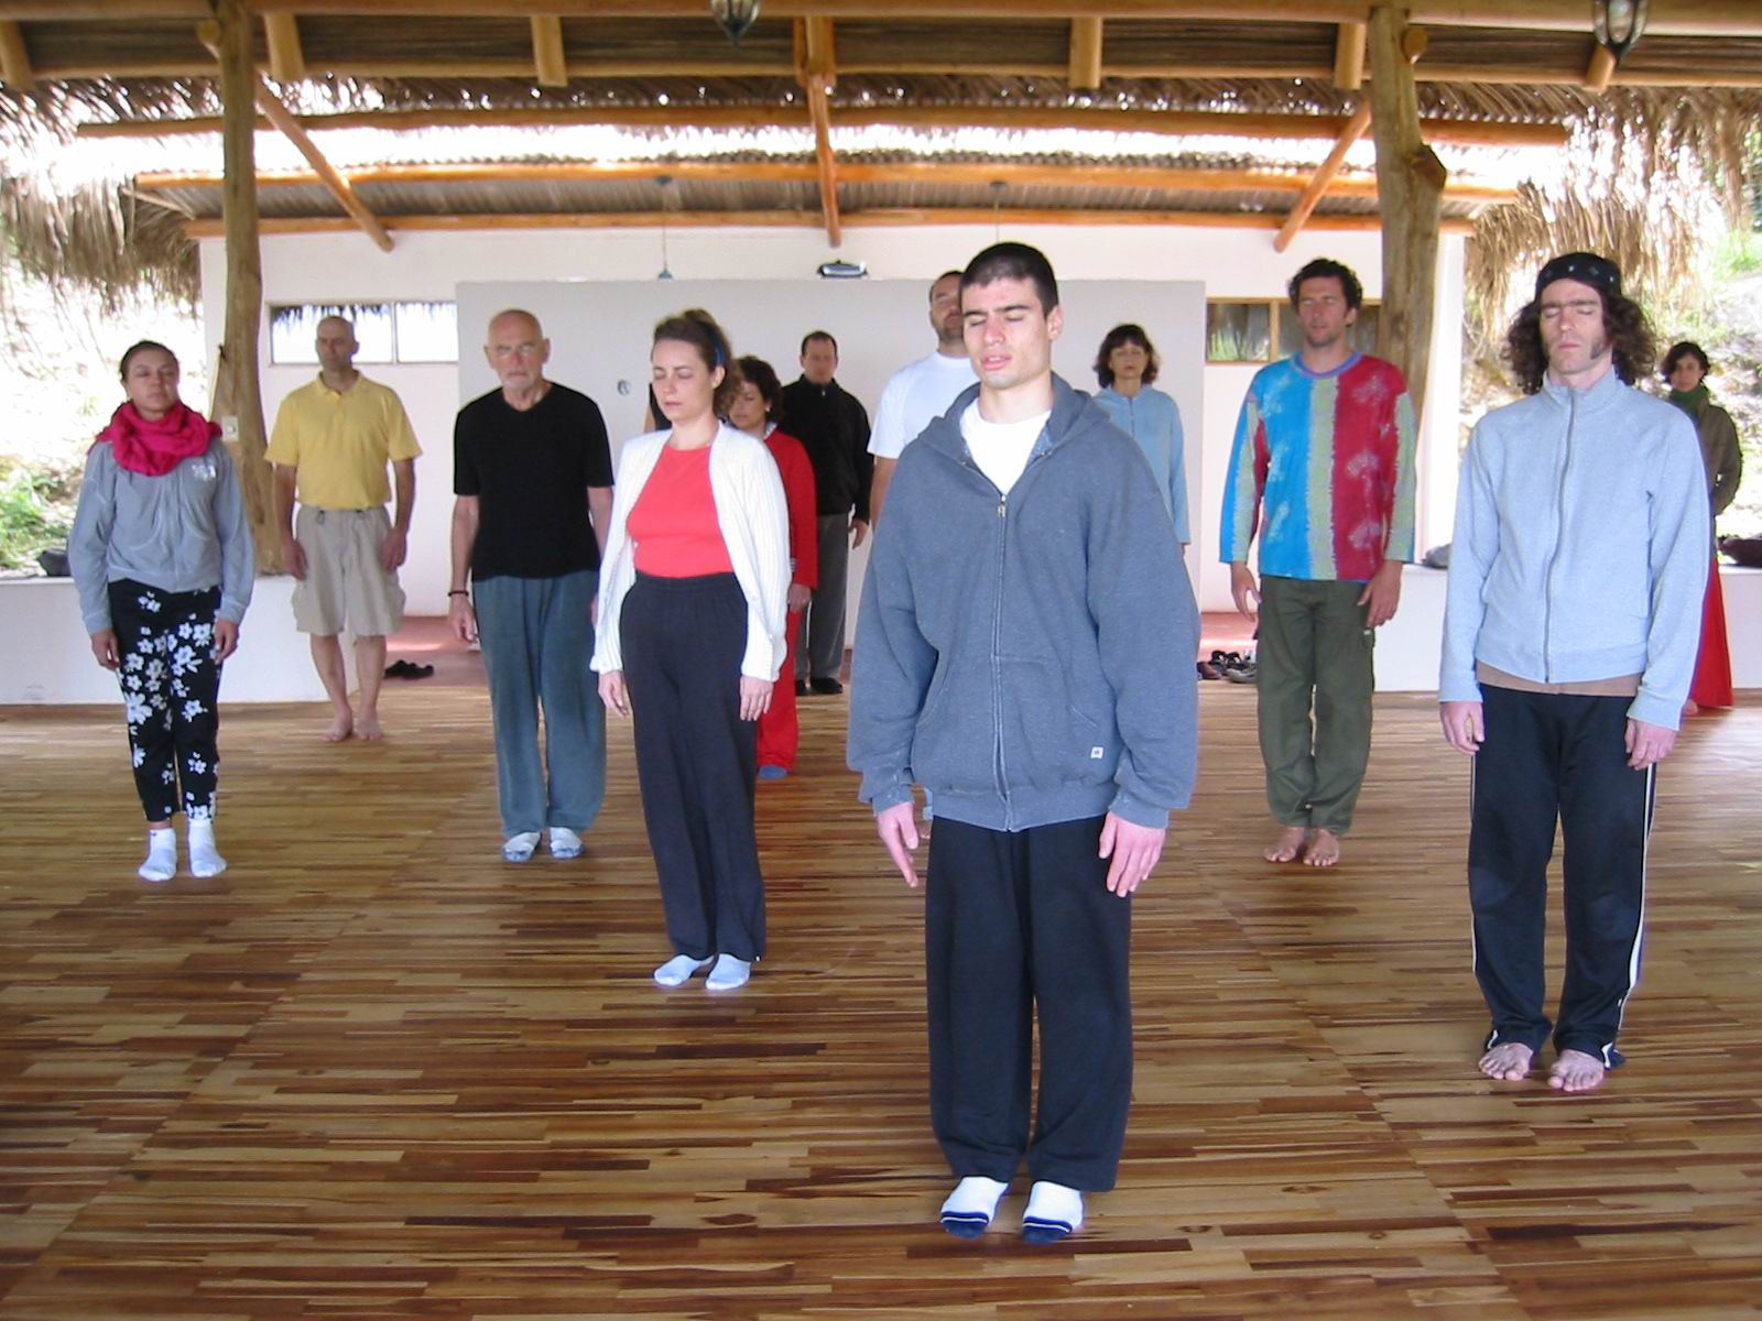
{"type": "Polygon", "coordinates": [[[1237,609],[1260,624],[1260,756],[1279,823],[1265,858],[1332,867],[1371,757],[1374,629],[1413,558],[1415,424],[1401,370],[1348,340],[1359,277],[1318,259],[1290,298],[1304,347],[1247,387],[1221,557],[1237,609]]]}

